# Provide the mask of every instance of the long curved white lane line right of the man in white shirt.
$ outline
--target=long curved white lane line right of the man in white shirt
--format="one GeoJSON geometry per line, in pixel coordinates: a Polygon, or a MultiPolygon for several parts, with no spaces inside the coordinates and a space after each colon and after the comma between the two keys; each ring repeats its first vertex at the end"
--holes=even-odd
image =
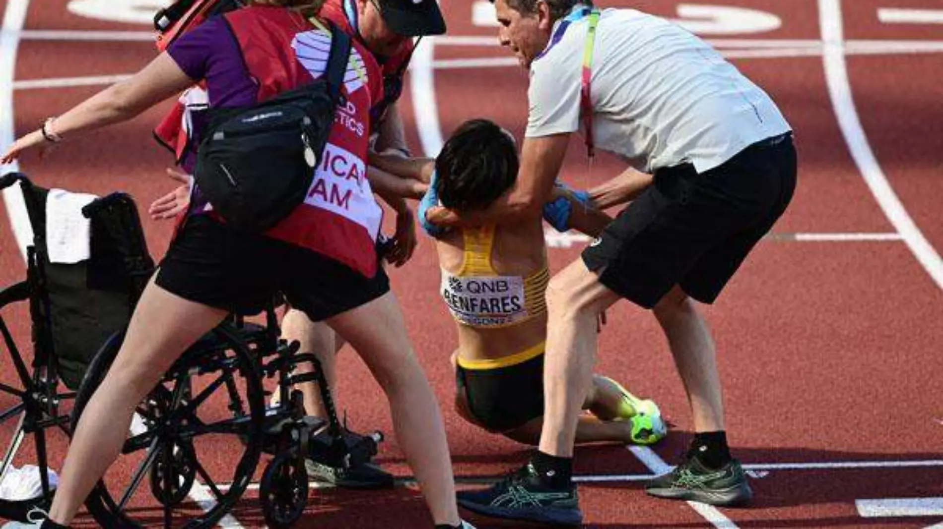
{"type": "Polygon", "coordinates": [[[936,286],[943,289],[943,259],[940,259],[935,248],[923,236],[913,219],[907,215],[901,200],[887,182],[884,171],[878,165],[874,152],[871,151],[868,137],[865,135],[857,109],[854,107],[852,86],[848,78],[843,49],[844,29],[840,0],[819,0],[819,24],[822,40],[825,42],[825,79],[829,96],[832,98],[838,126],[841,128],[842,135],[845,136],[852,158],[874,198],[884,210],[887,219],[902,234],[907,247],[936,282],[936,286]]]}

